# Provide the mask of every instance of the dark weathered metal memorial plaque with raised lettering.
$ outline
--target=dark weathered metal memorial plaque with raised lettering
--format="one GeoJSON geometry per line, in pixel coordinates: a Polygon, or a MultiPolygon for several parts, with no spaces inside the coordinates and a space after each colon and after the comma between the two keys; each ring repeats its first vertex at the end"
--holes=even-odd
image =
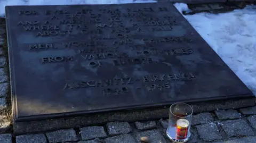
{"type": "Polygon", "coordinates": [[[251,96],[171,3],[7,6],[16,121],[251,96]]]}

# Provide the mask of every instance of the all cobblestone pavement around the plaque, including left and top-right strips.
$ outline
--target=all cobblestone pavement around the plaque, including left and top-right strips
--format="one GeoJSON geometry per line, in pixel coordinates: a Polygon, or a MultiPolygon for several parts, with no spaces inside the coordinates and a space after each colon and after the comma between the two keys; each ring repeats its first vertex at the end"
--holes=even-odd
{"type": "MultiPolygon", "coordinates": [[[[160,1],[160,0],[159,0],[160,1]]],[[[189,5],[190,13],[228,11],[242,4],[189,5]]],[[[0,19],[0,143],[133,143],[148,137],[151,143],[170,142],[165,137],[166,119],[144,122],[108,122],[90,127],[61,129],[13,135],[5,22],[0,19]]],[[[254,143],[256,142],[256,106],[230,108],[195,114],[188,143],[254,143]]]]}

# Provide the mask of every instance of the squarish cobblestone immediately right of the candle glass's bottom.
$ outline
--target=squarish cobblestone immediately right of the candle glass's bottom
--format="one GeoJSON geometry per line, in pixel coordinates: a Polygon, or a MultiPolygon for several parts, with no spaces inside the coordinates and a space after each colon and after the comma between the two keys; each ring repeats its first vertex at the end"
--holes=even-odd
{"type": "Polygon", "coordinates": [[[196,129],[199,138],[205,141],[213,141],[222,138],[217,125],[214,123],[197,125],[196,129]]]}

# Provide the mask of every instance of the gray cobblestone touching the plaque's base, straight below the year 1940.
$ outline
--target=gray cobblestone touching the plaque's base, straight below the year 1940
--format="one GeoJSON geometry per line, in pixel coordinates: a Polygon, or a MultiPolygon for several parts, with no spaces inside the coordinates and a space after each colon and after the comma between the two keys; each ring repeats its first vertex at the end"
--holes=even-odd
{"type": "Polygon", "coordinates": [[[109,122],[107,123],[107,131],[110,136],[115,136],[129,133],[132,131],[132,128],[128,122],[109,122]]]}

